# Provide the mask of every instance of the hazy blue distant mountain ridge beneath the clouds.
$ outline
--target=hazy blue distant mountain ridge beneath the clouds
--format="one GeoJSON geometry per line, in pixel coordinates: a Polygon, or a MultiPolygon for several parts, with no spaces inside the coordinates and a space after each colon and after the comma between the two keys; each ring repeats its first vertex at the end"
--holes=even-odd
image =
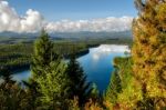
{"type": "MultiPolygon", "coordinates": [[[[17,32],[0,32],[0,37],[39,37],[39,32],[37,33],[17,33],[17,32]]],[[[83,32],[54,32],[50,33],[52,38],[129,38],[132,39],[132,32],[131,31],[121,31],[121,32],[89,32],[89,31],[83,31],[83,32]]]]}

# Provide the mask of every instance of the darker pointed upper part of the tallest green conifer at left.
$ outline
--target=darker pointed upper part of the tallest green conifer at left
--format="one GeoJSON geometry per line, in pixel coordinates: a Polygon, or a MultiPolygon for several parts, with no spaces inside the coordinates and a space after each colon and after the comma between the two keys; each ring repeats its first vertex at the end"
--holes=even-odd
{"type": "Polygon", "coordinates": [[[43,69],[56,59],[58,54],[53,52],[53,43],[50,41],[50,37],[45,30],[42,30],[40,38],[34,43],[34,53],[31,63],[33,78],[44,77],[43,69]]]}

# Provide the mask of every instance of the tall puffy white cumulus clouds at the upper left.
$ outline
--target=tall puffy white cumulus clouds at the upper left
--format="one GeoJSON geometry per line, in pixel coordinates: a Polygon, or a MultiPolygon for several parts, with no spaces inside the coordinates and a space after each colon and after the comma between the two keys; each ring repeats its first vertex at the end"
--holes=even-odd
{"type": "Polygon", "coordinates": [[[29,9],[20,17],[7,1],[0,1],[0,31],[35,32],[43,27],[40,12],[29,9]]]}

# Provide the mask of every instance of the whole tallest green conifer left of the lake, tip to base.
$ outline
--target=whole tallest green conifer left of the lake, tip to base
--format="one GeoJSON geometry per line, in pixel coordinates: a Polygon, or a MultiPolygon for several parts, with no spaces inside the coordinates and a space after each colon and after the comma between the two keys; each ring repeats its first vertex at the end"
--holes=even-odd
{"type": "Polygon", "coordinates": [[[66,109],[69,101],[66,67],[61,57],[53,51],[53,43],[45,31],[42,31],[35,41],[31,69],[32,80],[25,84],[30,93],[39,94],[37,98],[34,96],[34,102],[38,103],[34,106],[46,110],[66,109]]]}

